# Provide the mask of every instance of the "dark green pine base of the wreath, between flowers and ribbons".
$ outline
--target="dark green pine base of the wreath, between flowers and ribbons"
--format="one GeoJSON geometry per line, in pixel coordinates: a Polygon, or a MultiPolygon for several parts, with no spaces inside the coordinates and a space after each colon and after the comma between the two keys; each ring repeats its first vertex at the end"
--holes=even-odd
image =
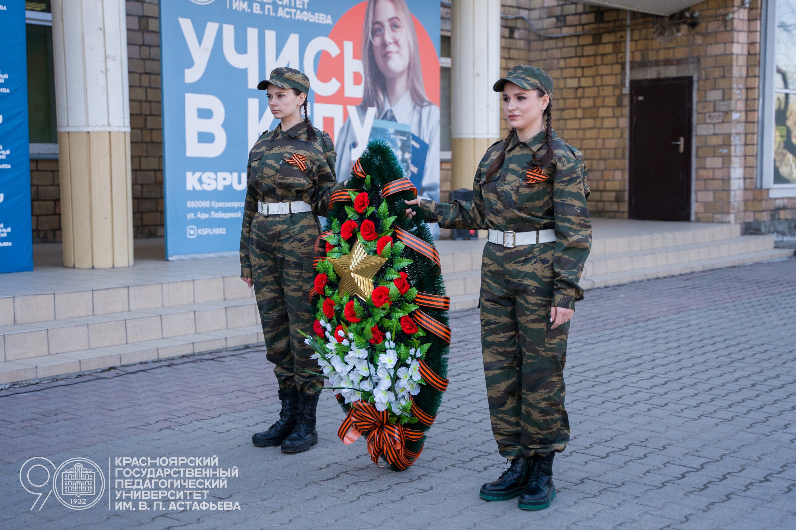
{"type": "MultiPolygon", "coordinates": [[[[368,144],[368,148],[362,153],[359,161],[365,174],[369,176],[369,189],[365,189],[366,179],[356,176],[353,172],[352,178],[349,180],[348,188],[358,192],[367,191],[369,203],[378,207],[378,205],[384,201],[381,195],[381,190],[384,188],[384,185],[389,184],[393,180],[404,178],[404,169],[396,160],[389,145],[380,140],[371,141],[368,144]]],[[[431,233],[425,222],[423,222],[422,216],[415,215],[409,218],[405,215],[404,211],[407,206],[404,203],[404,199],[410,200],[414,198],[415,194],[412,190],[399,191],[387,196],[386,202],[389,215],[394,215],[396,217],[393,222],[393,227],[397,226],[402,228],[428,244],[433,245],[431,233]]],[[[324,230],[332,230],[335,220],[341,223],[348,219],[348,213],[345,209],[346,206],[350,207],[351,203],[334,203],[334,208],[330,211],[324,230]]],[[[413,207],[413,209],[416,209],[416,207],[413,207]]],[[[376,226],[379,226],[381,222],[381,219],[377,217],[375,211],[372,211],[366,219],[373,221],[376,226]]],[[[397,241],[394,233],[392,239],[393,242],[397,241]]],[[[322,251],[322,254],[325,254],[325,252],[322,251]]],[[[434,261],[416,252],[416,250],[412,250],[409,246],[404,248],[400,256],[408,257],[412,260],[412,263],[403,269],[403,271],[407,273],[409,284],[411,284],[412,287],[417,288],[418,292],[426,292],[428,294],[440,296],[445,295],[445,283],[442,271],[434,261]]],[[[374,277],[374,283],[382,277],[384,277],[384,267],[377,273],[377,276],[374,277]]],[[[448,325],[447,311],[427,307],[423,307],[422,310],[445,326],[448,325]]],[[[364,308],[364,311],[368,311],[368,308],[364,308]]],[[[408,342],[410,337],[404,334],[403,331],[400,331],[400,327],[397,329],[397,336],[393,340],[396,343],[408,342]]],[[[423,342],[430,342],[431,344],[424,358],[427,366],[434,370],[440,377],[447,377],[448,343],[431,332],[426,334],[423,338],[423,342]]],[[[419,394],[414,397],[415,404],[431,416],[436,415],[439,410],[439,405],[442,403],[442,399],[443,393],[428,384],[422,385],[419,394]]],[[[346,414],[349,412],[349,404],[341,404],[341,407],[346,414]]],[[[429,428],[430,426],[420,422],[404,424],[405,430],[427,431],[429,428]]],[[[365,435],[365,433],[362,434],[365,435]]],[[[417,441],[406,440],[405,447],[409,451],[417,452],[423,447],[425,439],[426,437],[423,436],[422,439],[417,441]]],[[[395,466],[390,467],[392,470],[397,470],[395,466]]]]}

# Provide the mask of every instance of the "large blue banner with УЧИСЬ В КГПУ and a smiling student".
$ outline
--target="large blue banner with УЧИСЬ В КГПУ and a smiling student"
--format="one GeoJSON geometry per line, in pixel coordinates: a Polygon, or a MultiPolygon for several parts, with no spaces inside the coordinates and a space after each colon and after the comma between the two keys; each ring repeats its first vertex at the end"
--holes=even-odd
{"type": "Polygon", "coordinates": [[[310,79],[338,180],[373,138],[439,199],[439,4],[427,0],[161,2],[166,259],[236,253],[248,151],[278,125],[257,83],[310,79]]]}

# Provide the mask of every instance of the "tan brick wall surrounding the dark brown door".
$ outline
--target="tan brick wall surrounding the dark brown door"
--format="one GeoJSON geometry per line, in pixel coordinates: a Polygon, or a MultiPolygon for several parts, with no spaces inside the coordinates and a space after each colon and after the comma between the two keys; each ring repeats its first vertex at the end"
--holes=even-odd
{"type": "MultiPolygon", "coordinates": [[[[769,199],[767,190],[756,187],[759,0],[739,10],[731,21],[714,18],[742,4],[743,0],[709,0],[693,6],[708,21],[696,29],[662,25],[663,17],[632,14],[630,73],[638,77],[650,69],[669,68],[696,74],[697,221],[743,222],[746,232],[792,231],[796,199],[769,199]],[[665,27],[669,31],[663,31],[665,27]],[[699,34],[714,30],[711,35],[699,34]]],[[[544,33],[599,30],[542,38],[525,21],[504,19],[501,68],[505,72],[514,64],[529,63],[552,76],[553,126],[583,151],[591,211],[626,218],[628,96],[622,94],[626,12],[564,0],[504,0],[502,12],[525,15],[544,33]]],[[[669,75],[661,75],[665,76],[669,75]]],[[[505,122],[501,126],[507,132],[505,122]]]]}

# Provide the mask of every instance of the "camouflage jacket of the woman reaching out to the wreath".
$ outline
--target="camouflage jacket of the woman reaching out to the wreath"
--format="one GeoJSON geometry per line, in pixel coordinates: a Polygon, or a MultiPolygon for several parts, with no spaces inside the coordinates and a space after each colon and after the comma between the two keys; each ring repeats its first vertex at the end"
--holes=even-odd
{"type": "Polygon", "coordinates": [[[423,199],[419,206],[427,221],[439,222],[443,228],[515,232],[555,229],[553,304],[574,308],[574,302],[583,299],[578,280],[591,250],[586,166],[579,150],[553,133],[555,156],[542,168],[547,179],[529,184],[526,172],[535,167],[531,162],[533,153],[542,149],[539,157],[544,155],[544,140],[544,131],[527,142],[518,141],[514,135],[506,148],[501,172],[486,182],[486,172],[503,144],[495,142],[478,164],[471,202],[438,204],[423,199]]]}

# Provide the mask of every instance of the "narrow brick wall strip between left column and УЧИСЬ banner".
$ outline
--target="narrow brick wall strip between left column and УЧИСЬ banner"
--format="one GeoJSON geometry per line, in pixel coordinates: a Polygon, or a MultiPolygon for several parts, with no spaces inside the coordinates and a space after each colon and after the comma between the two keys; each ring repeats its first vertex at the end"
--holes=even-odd
{"type": "Polygon", "coordinates": [[[163,134],[158,0],[127,0],[127,64],[136,238],[163,235],[163,134]]]}

